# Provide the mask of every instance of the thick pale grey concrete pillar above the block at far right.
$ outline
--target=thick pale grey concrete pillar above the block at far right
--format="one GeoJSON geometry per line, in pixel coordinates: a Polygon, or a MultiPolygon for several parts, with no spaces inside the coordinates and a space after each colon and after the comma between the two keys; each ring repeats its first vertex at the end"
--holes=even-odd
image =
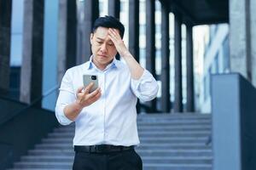
{"type": "MultiPolygon", "coordinates": [[[[249,81],[251,72],[250,7],[248,0],[230,0],[230,70],[249,81]]],[[[254,29],[254,28],[253,28],[254,29]]]]}

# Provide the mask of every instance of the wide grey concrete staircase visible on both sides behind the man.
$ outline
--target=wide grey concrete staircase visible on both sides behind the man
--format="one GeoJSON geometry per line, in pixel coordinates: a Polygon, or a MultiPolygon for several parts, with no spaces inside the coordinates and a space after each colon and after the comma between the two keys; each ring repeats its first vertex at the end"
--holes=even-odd
{"type": "MultiPolygon", "coordinates": [[[[211,116],[151,114],[137,118],[144,170],[212,170],[211,116]]],[[[58,127],[15,162],[12,170],[65,170],[73,165],[74,125],[58,127]]]]}

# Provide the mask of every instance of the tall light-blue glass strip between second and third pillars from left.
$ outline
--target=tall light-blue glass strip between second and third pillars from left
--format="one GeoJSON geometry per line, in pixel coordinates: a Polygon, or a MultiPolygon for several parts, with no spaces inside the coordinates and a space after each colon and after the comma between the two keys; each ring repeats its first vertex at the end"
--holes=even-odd
{"type": "MultiPolygon", "coordinates": [[[[42,107],[55,111],[55,101],[60,86],[58,76],[58,32],[59,1],[44,0],[44,64],[43,64],[43,94],[42,107]],[[49,93],[50,89],[55,90],[49,93]]],[[[62,42],[61,42],[62,43],[62,42]]]]}

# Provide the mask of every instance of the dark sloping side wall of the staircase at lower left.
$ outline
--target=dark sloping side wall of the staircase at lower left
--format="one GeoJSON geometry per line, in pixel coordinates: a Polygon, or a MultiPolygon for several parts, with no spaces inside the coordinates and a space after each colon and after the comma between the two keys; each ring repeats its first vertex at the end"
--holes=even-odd
{"type": "Polygon", "coordinates": [[[0,170],[11,167],[58,126],[54,112],[11,99],[0,98],[0,111],[0,170]]]}

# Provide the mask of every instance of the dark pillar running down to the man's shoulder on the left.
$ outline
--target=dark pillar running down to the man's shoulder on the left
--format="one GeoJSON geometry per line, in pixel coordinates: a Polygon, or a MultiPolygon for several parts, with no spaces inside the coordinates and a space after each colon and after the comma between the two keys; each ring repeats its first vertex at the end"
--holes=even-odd
{"type": "Polygon", "coordinates": [[[68,68],[76,65],[77,6],[76,1],[59,1],[58,83],[68,68]]]}

